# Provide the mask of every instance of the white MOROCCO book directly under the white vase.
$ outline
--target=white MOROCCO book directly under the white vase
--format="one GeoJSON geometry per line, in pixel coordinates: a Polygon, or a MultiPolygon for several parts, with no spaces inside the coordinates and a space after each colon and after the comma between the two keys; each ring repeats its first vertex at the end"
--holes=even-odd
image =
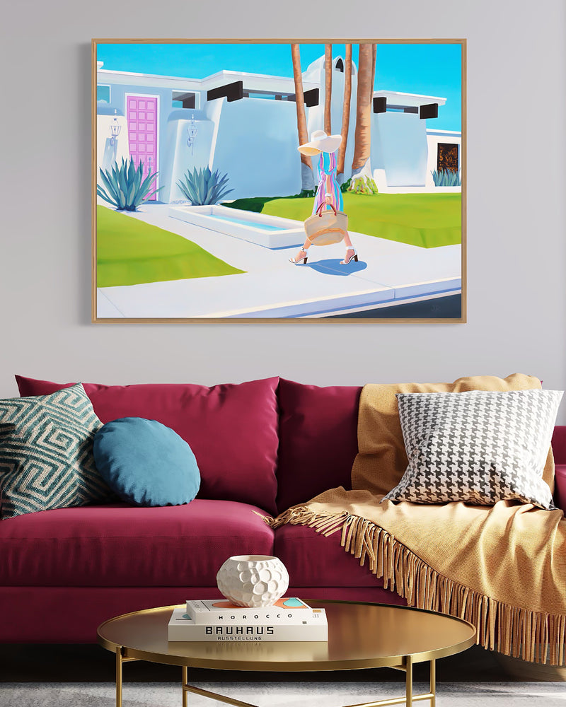
{"type": "Polygon", "coordinates": [[[238,607],[226,599],[187,601],[187,614],[195,624],[293,624],[320,612],[296,597],[282,597],[270,607],[238,607]]]}

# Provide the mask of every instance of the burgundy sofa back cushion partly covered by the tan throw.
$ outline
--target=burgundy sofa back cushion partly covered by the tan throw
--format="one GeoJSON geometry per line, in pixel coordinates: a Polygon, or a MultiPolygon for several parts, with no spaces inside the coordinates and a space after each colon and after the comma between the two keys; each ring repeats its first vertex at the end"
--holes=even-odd
{"type": "Polygon", "coordinates": [[[335,486],[352,488],[361,392],[279,380],[279,512],[335,486]]]}

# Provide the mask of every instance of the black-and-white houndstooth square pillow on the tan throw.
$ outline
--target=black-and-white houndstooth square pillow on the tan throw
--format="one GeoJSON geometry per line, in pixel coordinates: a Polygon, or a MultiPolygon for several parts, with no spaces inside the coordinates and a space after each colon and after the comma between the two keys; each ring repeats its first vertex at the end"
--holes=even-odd
{"type": "Polygon", "coordinates": [[[399,393],[409,465],[383,501],[516,499],[553,510],[542,477],[561,399],[561,390],[399,393]]]}

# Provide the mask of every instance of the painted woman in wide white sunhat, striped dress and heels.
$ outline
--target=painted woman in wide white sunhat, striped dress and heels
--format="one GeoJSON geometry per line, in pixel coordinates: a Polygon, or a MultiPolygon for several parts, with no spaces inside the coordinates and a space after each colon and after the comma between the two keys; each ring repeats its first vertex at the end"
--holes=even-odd
{"type": "MultiPolygon", "coordinates": [[[[313,215],[320,213],[320,210],[342,211],[344,208],[342,192],[336,181],[336,151],[341,141],[341,135],[327,135],[323,130],[315,130],[311,135],[311,141],[299,146],[299,152],[304,155],[311,157],[320,155],[318,159],[319,181],[314,199],[313,215]]],[[[346,244],[346,255],[345,259],[340,261],[340,265],[347,265],[352,259],[357,262],[357,253],[347,231],[345,231],[344,243],[346,244]]],[[[308,248],[311,245],[311,240],[306,238],[301,250],[296,257],[289,258],[289,262],[294,265],[305,264],[308,248]]]]}

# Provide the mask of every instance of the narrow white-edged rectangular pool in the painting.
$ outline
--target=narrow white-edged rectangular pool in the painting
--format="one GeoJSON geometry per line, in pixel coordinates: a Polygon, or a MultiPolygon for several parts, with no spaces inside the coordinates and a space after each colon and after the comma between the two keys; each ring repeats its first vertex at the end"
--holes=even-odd
{"type": "Polygon", "coordinates": [[[264,248],[287,248],[302,245],[305,240],[302,221],[228,206],[175,205],[169,209],[169,216],[264,248]]]}

